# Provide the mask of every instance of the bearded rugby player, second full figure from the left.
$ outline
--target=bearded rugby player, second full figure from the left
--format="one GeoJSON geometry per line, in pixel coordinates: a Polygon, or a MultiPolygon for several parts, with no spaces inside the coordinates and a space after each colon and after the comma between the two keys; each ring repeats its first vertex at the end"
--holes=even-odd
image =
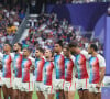
{"type": "Polygon", "coordinates": [[[22,86],[22,45],[15,43],[13,46],[14,58],[13,58],[13,99],[21,99],[21,86],[22,86]]]}

